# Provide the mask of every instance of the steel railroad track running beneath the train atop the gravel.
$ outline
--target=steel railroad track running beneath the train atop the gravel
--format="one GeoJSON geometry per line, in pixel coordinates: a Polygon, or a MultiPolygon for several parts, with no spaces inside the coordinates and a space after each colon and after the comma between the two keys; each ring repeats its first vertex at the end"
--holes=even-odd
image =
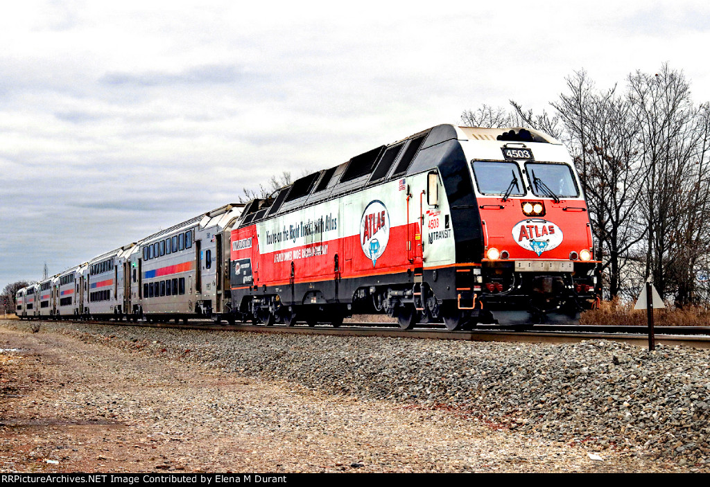
{"type": "MultiPolygon", "coordinates": [[[[73,322],[67,322],[73,323],[73,322]]],[[[473,330],[449,331],[434,328],[436,325],[420,325],[413,330],[400,330],[392,323],[346,323],[339,328],[330,325],[226,325],[211,320],[184,323],[137,323],[116,321],[82,321],[97,325],[130,325],[154,328],[183,328],[188,330],[222,330],[266,333],[305,333],[309,335],[337,335],[354,337],[400,337],[432,340],[469,340],[477,342],[527,342],[527,343],[574,343],[583,340],[614,340],[639,347],[648,345],[648,332],[640,326],[580,326],[580,325],[535,325],[528,330],[513,330],[496,325],[479,325],[473,330]]],[[[710,348],[710,327],[656,327],[655,342],[662,345],[710,348]]]]}

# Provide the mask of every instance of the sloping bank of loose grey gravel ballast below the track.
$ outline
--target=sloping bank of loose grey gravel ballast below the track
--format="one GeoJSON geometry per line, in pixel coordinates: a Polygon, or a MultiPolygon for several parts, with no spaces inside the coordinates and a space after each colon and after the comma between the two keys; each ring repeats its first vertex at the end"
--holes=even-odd
{"type": "Polygon", "coordinates": [[[597,451],[710,465],[707,350],[660,346],[648,352],[599,340],[510,345],[77,323],[43,327],[244,376],[457,410],[597,451]]]}

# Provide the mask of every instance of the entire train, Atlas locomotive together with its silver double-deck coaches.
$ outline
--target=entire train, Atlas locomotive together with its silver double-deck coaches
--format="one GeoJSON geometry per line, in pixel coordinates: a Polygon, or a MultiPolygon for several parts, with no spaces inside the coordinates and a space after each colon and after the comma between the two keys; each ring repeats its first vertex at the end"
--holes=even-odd
{"type": "Polygon", "coordinates": [[[17,293],[21,318],[401,328],[572,323],[596,302],[569,154],[524,128],[437,125],[17,293]]]}

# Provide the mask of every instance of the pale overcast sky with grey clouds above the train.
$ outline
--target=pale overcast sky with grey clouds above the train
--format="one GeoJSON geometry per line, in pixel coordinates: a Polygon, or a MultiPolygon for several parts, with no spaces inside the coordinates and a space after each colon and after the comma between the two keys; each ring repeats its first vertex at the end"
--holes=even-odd
{"type": "Polygon", "coordinates": [[[0,289],[578,69],[710,101],[706,1],[245,3],[3,6],[0,289]]]}

